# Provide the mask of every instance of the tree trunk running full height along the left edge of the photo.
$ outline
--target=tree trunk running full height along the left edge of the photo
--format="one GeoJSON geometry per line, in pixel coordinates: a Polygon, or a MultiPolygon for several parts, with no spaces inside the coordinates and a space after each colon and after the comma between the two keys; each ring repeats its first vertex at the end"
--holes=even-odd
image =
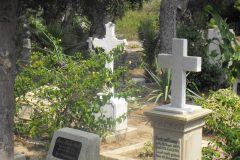
{"type": "Polygon", "coordinates": [[[16,0],[0,0],[0,159],[12,160],[15,113],[16,0]]]}

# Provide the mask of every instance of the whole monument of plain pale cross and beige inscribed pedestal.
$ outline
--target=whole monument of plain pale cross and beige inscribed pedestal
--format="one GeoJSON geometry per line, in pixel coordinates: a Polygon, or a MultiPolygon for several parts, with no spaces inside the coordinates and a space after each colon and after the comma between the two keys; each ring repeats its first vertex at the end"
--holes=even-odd
{"type": "Polygon", "coordinates": [[[172,54],[159,54],[172,69],[171,104],[145,112],[154,129],[154,160],[201,160],[202,127],[211,110],[186,104],[186,71],[201,71],[201,58],[187,56],[187,40],[173,39],[172,54]]]}

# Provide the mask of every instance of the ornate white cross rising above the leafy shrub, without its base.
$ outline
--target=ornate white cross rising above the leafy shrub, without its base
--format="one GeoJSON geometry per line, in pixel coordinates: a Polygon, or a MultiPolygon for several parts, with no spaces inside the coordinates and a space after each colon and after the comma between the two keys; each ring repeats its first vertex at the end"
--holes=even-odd
{"type": "MultiPolygon", "coordinates": [[[[110,53],[110,51],[114,48],[116,48],[118,45],[127,45],[127,40],[118,40],[115,35],[115,24],[112,22],[109,22],[105,24],[106,27],[106,34],[103,39],[94,38],[92,40],[92,45],[94,48],[101,47],[105,50],[107,54],[110,53]]],[[[91,37],[88,40],[89,45],[91,45],[91,37]]],[[[105,67],[108,69],[111,69],[113,71],[114,68],[114,62],[106,62],[105,67]]]]}

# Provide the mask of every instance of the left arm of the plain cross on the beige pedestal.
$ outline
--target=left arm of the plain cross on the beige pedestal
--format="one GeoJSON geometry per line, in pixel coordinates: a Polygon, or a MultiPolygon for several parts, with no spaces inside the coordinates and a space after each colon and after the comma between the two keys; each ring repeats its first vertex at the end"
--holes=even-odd
{"type": "Polygon", "coordinates": [[[173,56],[171,54],[159,54],[158,64],[162,68],[172,68],[173,56]]]}

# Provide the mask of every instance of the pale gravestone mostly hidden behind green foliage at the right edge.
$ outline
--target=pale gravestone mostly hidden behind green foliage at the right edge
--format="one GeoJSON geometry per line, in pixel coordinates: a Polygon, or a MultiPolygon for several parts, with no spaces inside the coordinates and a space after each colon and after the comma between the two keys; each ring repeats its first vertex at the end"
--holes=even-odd
{"type": "MultiPolygon", "coordinates": [[[[233,29],[229,30],[230,32],[234,33],[233,29]]],[[[222,36],[220,34],[220,31],[218,28],[209,29],[208,30],[208,39],[212,40],[212,42],[209,44],[208,52],[211,54],[212,52],[215,52],[217,55],[214,58],[211,58],[209,62],[211,64],[216,64],[218,61],[220,61],[221,58],[221,51],[220,51],[220,43],[223,43],[222,36]]],[[[223,78],[220,79],[221,82],[224,81],[225,75],[223,75],[223,78]]],[[[233,91],[240,95],[240,79],[237,79],[237,82],[233,85],[233,91]]]]}

